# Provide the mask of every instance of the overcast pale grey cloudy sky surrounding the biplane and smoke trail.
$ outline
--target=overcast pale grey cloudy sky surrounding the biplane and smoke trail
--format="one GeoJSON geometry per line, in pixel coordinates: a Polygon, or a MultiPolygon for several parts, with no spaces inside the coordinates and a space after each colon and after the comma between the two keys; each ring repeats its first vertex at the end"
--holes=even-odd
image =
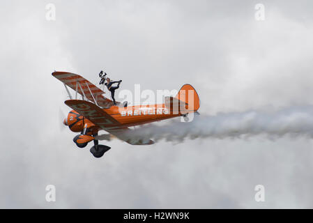
{"type": "Polygon", "coordinates": [[[160,141],[96,160],[53,70],[197,89],[201,114],[312,105],[312,1],[3,1],[0,208],[312,208],[312,139],[160,141]],[[56,20],[45,19],[54,3],[56,20]],[[254,6],[264,3],[265,20],[254,6]],[[56,185],[56,202],[45,186],[56,185]],[[254,201],[264,185],[266,201],[254,201]]]}

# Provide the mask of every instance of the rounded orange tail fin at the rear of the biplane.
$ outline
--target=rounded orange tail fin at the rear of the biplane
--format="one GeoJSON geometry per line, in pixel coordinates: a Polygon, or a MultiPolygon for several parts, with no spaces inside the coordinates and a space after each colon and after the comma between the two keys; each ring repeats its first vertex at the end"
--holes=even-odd
{"type": "Polygon", "coordinates": [[[178,91],[175,98],[185,102],[186,109],[188,109],[189,111],[196,112],[200,107],[199,95],[196,89],[194,89],[194,87],[190,84],[184,84],[181,87],[181,90],[178,91]]]}

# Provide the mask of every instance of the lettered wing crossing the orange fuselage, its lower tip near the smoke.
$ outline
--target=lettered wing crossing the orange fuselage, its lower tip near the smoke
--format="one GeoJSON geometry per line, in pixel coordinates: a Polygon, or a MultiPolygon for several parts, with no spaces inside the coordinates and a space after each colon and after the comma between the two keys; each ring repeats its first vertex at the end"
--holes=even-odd
{"type": "Polygon", "coordinates": [[[66,105],[76,112],[88,118],[93,124],[98,125],[103,130],[114,134],[119,139],[132,145],[150,145],[154,142],[151,139],[135,137],[130,134],[132,130],[121,125],[115,118],[107,114],[105,110],[100,109],[97,105],[85,100],[66,100],[66,105]]]}

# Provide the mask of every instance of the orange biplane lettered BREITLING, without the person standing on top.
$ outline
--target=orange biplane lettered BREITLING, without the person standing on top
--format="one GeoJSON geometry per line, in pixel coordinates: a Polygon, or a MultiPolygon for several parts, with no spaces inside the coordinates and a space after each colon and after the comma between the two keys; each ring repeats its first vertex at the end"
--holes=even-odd
{"type": "Polygon", "coordinates": [[[73,141],[79,148],[84,148],[90,141],[94,146],[90,152],[94,157],[102,155],[109,146],[98,144],[98,131],[105,130],[131,145],[151,145],[154,142],[145,137],[131,134],[129,127],[143,125],[177,116],[187,117],[199,109],[199,95],[190,85],[185,84],[175,97],[166,97],[165,103],[155,105],[128,106],[127,102],[117,102],[105,98],[105,92],[79,75],[70,72],[52,72],[52,75],[63,82],[70,100],[65,104],[72,109],[64,119],[72,132],[80,132],[73,141]],[[68,87],[75,91],[72,98],[68,87]],[[82,100],[77,99],[77,94],[82,100]]]}

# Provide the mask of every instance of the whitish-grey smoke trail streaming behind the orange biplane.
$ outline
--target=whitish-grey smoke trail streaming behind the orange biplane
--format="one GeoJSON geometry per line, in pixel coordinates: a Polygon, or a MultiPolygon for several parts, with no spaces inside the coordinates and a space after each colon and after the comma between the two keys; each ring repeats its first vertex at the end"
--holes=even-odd
{"type": "Polygon", "coordinates": [[[248,111],[194,116],[190,123],[170,121],[166,125],[144,125],[131,132],[133,137],[159,141],[197,138],[246,138],[264,135],[270,139],[313,137],[313,106],[289,107],[276,112],[248,111]]]}

